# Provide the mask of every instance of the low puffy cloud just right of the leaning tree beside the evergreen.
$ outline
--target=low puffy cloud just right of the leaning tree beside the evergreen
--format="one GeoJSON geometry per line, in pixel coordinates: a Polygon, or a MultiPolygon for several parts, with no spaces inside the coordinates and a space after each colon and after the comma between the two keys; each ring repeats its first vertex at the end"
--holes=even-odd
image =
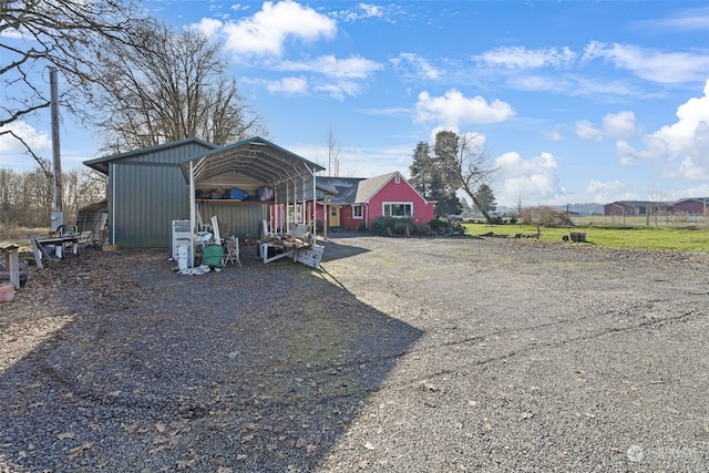
{"type": "Polygon", "coordinates": [[[524,160],[518,153],[510,152],[494,161],[497,169],[493,185],[495,198],[502,205],[513,206],[517,200],[522,205],[563,204],[566,192],[559,186],[558,164],[551,153],[542,153],[524,160]]]}

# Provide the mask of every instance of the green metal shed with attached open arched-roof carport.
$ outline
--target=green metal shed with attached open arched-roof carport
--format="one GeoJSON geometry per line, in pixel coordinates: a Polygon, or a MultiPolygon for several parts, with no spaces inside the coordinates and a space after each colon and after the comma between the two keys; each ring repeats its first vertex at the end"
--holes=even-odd
{"type": "Polygon", "coordinates": [[[309,199],[315,174],[325,169],[267,140],[227,146],[188,138],[84,162],[109,177],[109,244],[168,248],[172,220],[216,216],[228,235],[257,236],[269,206],[309,199]],[[197,188],[260,186],[273,202],[196,200],[197,188]]]}

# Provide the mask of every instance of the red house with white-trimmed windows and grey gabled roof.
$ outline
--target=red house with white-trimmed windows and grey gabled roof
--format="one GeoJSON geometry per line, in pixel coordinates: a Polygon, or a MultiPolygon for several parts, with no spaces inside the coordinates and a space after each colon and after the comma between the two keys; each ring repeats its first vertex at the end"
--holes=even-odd
{"type": "Polygon", "coordinates": [[[328,227],[369,229],[381,216],[411,218],[417,224],[433,219],[435,204],[428,202],[398,172],[371,178],[317,176],[316,218],[328,227]]]}

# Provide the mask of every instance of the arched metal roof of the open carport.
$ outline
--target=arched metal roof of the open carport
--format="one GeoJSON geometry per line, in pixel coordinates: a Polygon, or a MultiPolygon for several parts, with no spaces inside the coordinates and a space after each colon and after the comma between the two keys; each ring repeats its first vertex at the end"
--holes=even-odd
{"type": "Polygon", "coordinates": [[[185,181],[189,179],[193,163],[195,181],[204,181],[226,172],[250,176],[270,186],[292,181],[304,175],[325,171],[312,163],[261,137],[253,137],[207,151],[179,163],[185,181]]]}

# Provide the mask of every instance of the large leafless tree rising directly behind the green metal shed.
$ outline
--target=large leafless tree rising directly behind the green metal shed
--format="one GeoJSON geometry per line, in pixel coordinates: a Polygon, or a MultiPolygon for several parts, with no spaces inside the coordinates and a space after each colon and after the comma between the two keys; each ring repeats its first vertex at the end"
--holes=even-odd
{"type": "Polygon", "coordinates": [[[140,28],[135,44],[112,43],[100,58],[102,80],[92,96],[106,150],[198,137],[218,145],[261,132],[218,45],[196,30],[140,28]]]}

